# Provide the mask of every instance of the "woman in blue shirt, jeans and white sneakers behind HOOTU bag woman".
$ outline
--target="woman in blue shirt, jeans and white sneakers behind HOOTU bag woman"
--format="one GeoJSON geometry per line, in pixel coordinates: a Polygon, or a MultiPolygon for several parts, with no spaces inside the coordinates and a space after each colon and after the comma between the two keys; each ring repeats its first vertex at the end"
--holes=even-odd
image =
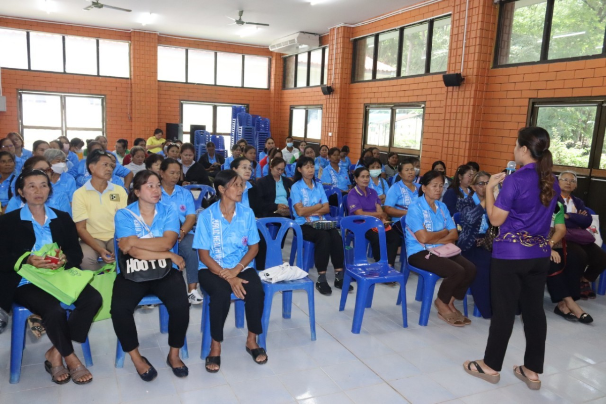
{"type": "Polygon", "coordinates": [[[161,204],[171,206],[179,214],[179,255],[185,260],[185,273],[187,274],[187,298],[193,305],[202,303],[202,296],[198,293],[198,254],[191,248],[193,231],[196,224],[196,207],[190,190],[179,187],[177,183],[181,177],[181,163],[168,157],[160,165],[162,177],[161,204]]]}

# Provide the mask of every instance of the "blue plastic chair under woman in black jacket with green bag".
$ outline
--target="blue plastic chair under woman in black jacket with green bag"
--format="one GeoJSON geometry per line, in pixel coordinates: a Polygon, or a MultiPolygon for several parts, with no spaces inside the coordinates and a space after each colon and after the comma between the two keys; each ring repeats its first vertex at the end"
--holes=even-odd
{"type": "MultiPolygon", "coordinates": [[[[61,303],[61,307],[67,311],[69,317],[70,311],[75,310],[74,305],[61,303]]],[[[25,332],[27,326],[27,317],[32,316],[32,312],[24,306],[13,303],[13,325],[10,335],[10,383],[19,383],[21,379],[21,362],[23,360],[23,350],[25,349],[25,332]]],[[[90,353],[90,344],[88,337],[82,344],[82,354],[87,368],[93,366],[93,356],[90,353]]]]}

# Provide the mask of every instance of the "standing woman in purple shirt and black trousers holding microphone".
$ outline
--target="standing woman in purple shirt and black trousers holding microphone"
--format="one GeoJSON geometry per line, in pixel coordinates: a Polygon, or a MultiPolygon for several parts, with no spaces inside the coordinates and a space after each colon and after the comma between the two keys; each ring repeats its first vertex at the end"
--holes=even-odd
{"type": "Polygon", "coordinates": [[[522,128],[513,150],[514,159],[522,168],[508,177],[495,174],[488,181],[488,219],[500,226],[493,243],[490,273],[493,317],[484,360],[463,364],[473,376],[491,383],[499,381],[519,304],[526,351],[524,365],[514,366],[513,372],[533,390],[541,388],[539,373],[543,373],[547,337],[543,294],[553,245],[547,237],[560,192],[551,172],[549,143],[545,129],[522,128]],[[495,202],[493,190],[501,182],[501,193],[495,202]]]}

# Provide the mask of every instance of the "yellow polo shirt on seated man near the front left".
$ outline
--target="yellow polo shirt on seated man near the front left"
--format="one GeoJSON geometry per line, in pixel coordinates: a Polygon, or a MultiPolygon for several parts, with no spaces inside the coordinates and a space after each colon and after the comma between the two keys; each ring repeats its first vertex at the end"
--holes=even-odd
{"type": "Polygon", "coordinates": [[[107,241],[114,236],[114,216],[118,209],[127,207],[124,188],[107,183],[103,193],[95,190],[88,180],[75,191],[72,200],[73,221],[86,220],[86,230],[95,239],[107,241]]]}

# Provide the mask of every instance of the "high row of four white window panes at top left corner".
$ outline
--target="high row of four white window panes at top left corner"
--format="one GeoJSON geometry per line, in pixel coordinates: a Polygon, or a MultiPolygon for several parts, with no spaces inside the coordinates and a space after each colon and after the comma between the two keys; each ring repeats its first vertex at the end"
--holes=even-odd
{"type": "Polygon", "coordinates": [[[0,28],[0,67],[130,77],[130,42],[0,28]]]}

